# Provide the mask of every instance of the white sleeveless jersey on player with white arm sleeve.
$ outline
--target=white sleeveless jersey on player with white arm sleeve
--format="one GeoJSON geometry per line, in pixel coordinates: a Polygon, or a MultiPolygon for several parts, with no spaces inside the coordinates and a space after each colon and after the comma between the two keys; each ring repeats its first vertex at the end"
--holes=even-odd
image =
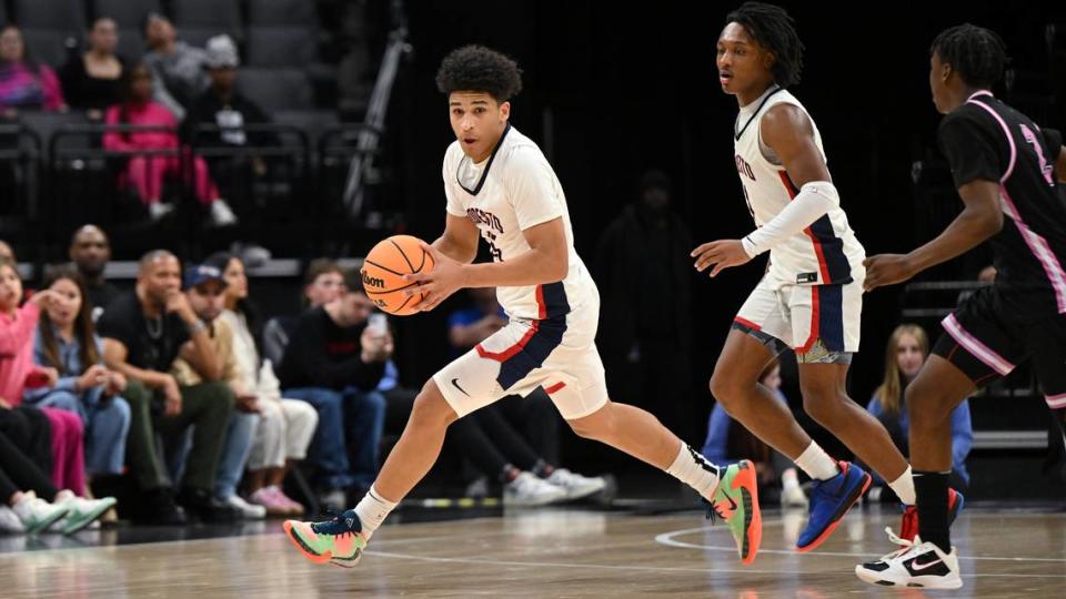
{"type": "MultiPolygon", "coordinates": [[[[736,171],[744,186],[747,207],[757,226],[774,219],[800,190],[781,164],[766,158],[760,135],[763,115],[781,103],[793,104],[806,113],[803,104],[787,90],[771,88],[762,98],[741,109],[734,128],[736,171]]],[[[811,119],[811,114],[807,113],[811,119]]],[[[825,160],[822,135],[814,119],[814,142],[825,160]]],[[[770,273],[778,281],[796,284],[848,283],[864,273],[866,253],[847,224],[841,206],[834,206],[802,233],[778,243],[770,251],[770,273]]]]}

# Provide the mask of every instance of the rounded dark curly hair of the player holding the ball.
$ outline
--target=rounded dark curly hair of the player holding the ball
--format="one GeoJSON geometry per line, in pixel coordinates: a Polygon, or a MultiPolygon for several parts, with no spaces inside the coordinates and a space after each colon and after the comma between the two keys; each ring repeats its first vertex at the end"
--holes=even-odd
{"type": "Polygon", "coordinates": [[[522,91],[522,70],[510,58],[484,45],[464,45],[444,57],[436,71],[436,89],[484,92],[506,102],[522,91]]]}

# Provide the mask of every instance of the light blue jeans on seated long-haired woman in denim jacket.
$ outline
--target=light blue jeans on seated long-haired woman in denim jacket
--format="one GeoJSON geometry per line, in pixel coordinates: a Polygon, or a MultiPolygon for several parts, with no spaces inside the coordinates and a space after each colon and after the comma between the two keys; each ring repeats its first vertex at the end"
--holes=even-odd
{"type": "Polygon", "coordinates": [[[122,474],[131,417],[125,399],[103,397],[101,387],[92,387],[81,394],[52,392],[33,405],[73,412],[81,417],[86,426],[86,471],[90,476],[122,474]]]}

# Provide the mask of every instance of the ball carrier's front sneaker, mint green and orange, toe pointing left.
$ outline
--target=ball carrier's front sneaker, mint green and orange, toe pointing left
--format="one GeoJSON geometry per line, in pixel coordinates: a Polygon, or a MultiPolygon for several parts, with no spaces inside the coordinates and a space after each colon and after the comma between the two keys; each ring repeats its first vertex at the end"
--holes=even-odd
{"type": "Polygon", "coordinates": [[[324,522],[285,520],[282,526],[303,557],[315,564],[354,568],[366,547],[363,524],[354,509],[324,522]]]}

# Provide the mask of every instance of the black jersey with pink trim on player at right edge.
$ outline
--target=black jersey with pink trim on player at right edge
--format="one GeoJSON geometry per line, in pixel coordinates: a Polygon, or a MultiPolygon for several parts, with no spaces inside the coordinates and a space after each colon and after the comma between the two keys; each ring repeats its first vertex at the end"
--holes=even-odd
{"type": "Polygon", "coordinates": [[[999,183],[1003,229],[989,240],[1004,309],[1027,319],[1066,314],[1066,201],[1055,182],[1057,131],[979,91],[941,122],[955,186],[999,183]]]}

